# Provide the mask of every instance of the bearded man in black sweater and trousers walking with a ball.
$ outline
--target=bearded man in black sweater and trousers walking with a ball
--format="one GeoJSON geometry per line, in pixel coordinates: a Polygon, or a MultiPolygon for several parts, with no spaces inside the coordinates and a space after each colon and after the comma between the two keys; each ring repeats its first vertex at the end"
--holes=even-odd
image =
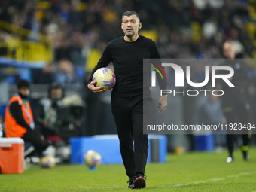
{"type": "MultiPolygon", "coordinates": [[[[121,28],[124,36],[108,43],[88,81],[88,88],[94,93],[105,93],[103,87],[95,86],[93,73],[113,62],[117,82],[111,93],[111,107],[130,188],[144,188],[146,185],[144,173],[148,157],[148,135],[143,134],[143,111],[146,110],[143,102],[147,103],[146,115],[150,118],[152,99],[149,84],[143,87],[143,59],[160,58],[157,44],[138,35],[141,27],[142,23],[135,11],[123,13],[121,28]]],[[[160,88],[165,90],[166,79],[157,78],[160,88]]],[[[157,109],[160,106],[159,113],[162,113],[167,106],[166,95],[160,97],[157,109]]]]}

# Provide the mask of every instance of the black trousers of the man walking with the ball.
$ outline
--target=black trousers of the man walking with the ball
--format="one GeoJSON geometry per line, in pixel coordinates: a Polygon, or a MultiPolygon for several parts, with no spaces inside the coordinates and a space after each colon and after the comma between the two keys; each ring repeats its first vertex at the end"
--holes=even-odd
{"type": "MultiPolygon", "coordinates": [[[[151,118],[151,96],[147,102],[146,118],[151,118]]],[[[143,134],[143,95],[120,97],[111,96],[111,107],[120,141],[120,153],[126,175],[145,174],[148,157],[148,135],[143,134]],[[133,148],[134,141],[134,148],[133,148]]]]}

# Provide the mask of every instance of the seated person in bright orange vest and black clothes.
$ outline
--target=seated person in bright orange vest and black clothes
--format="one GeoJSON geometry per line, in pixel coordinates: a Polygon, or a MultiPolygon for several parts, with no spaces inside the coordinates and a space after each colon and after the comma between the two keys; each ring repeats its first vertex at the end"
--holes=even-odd
{"type": "Polygon", "coordinates": [[[35,130],[35,123],[28,101],[29,81],[17,81],[17,94],[8,101],[5,110],[5,133],[7,137],[20,137],[30,142],[38,156],[50,145],[44,136],[35,130]]]}

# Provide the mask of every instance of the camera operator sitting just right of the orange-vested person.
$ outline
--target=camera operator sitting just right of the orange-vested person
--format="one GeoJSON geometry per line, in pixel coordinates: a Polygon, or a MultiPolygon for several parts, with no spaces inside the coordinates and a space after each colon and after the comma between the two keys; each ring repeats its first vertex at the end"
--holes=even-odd
{"type": "Polygon", "coordinates": [[[58,114],[57,108],[63,99],[64,92],[60,84],[50,84],[48,97],[39,101],[35,111],[35,126],[44,136],[57,136],[58,133],[58,114]]]}

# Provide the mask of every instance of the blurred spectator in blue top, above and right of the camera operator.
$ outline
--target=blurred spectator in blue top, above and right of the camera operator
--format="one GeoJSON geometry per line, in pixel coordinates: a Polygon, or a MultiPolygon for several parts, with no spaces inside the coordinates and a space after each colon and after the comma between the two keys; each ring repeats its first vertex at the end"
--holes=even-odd
{"type": "Polygon", "coordinates": [[[79,86],[78,77],[75,74],[75,70],[72,65],[72,62],[70,62],[68,59],[62,59],[59,61],[58,69],[55,73],[55,81],[61,84],[62,87],[65,87],[65,86],[78,87],[79,86]]]}

